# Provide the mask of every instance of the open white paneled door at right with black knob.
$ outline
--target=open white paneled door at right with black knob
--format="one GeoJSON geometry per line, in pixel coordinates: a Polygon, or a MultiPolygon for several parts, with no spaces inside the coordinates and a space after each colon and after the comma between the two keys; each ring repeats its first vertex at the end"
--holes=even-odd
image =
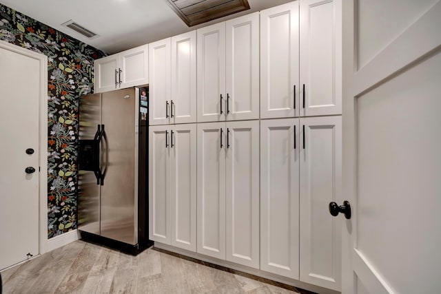
{"type": "Polygon", "coordinates": [[[358,2],[343,7],[342,292],[439,293],[441,2],[358,2]]]}

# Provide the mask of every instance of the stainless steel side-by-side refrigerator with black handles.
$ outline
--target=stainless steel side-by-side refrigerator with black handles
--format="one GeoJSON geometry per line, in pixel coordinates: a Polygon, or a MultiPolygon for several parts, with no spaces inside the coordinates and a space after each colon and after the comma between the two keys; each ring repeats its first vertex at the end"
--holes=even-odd
{"type": "Polygon", "coordinates": [[[137,254],[150,246],[147,89],[82,96],[79,105],[79,231],[137,254]]]}

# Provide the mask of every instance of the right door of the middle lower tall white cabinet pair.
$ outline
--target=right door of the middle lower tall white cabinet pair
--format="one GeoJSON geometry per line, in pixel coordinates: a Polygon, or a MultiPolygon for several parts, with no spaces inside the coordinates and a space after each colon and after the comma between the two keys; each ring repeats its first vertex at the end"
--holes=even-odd
{"type": "Polygon", "coordinates": [[[259,121],[227,123],[227,260],[259,268],[259,121]]]}

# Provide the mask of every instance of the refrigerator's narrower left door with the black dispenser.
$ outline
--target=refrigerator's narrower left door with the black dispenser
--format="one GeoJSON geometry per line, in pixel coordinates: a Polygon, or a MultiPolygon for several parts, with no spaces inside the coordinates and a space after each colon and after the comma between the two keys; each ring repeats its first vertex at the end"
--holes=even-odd
{"type": "Polygon", "coordinates": [[[96,171],[100,162],[96,135],[101,126],[101,94],[82,96],[79,105],[78,228],[99,235],[100,186],[96,171]]]}

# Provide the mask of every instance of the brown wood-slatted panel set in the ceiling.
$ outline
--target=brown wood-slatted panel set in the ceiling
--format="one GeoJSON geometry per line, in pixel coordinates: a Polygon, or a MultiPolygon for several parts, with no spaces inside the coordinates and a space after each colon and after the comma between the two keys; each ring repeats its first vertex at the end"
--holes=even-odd
{"type": "Polygon", "coordinates": [[[167,0],[189,26],[226,17],[249,9],[247,0],[167,0]]]}

